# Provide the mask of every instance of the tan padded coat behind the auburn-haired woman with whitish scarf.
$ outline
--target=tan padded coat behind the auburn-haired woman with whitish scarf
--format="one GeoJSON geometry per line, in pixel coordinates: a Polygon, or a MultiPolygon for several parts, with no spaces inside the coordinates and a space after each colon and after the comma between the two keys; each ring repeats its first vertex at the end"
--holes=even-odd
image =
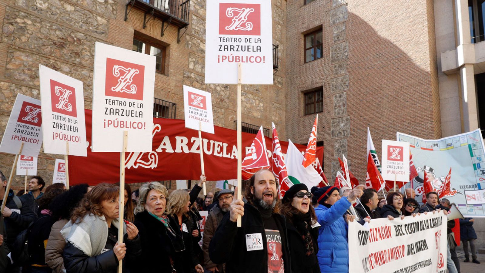
{"type": "Polygon", "coordinates": [[[61,235],[61,229],[67,222],[69,220],[61,219],[52,225],[46,245],[46,263],[55,273],[64,272],[64,258],[62,254],[64,252],[65,239],[61,235]]]}

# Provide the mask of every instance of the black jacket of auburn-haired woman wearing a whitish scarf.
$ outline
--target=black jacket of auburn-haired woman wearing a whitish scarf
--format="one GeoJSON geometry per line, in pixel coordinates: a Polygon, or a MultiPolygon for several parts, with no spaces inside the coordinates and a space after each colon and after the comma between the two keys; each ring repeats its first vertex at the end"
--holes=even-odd
{"type": "MultiPolygon", "coordinates": [[[[116,242],[117,240],[115,238],[108,235],[107,245],[114,246],[116,242]]],[[[126,255],[123,258],[123,272],[138,272],[138,263],[142,253],[140,236],[137,236],[133,240],[129,240],[128,234],[125,234],[123,242],[126,244],[126,255]],[[133,270],[130,271],[130,268],[133,268],[133,270]]],[[[64,248],[63,257],[66,273],[116,273],[118,270],[119,262],[116,254],[114,254],[113,248],[97,256],[90,257],[70,242],[67,242],[64,248]]]]}

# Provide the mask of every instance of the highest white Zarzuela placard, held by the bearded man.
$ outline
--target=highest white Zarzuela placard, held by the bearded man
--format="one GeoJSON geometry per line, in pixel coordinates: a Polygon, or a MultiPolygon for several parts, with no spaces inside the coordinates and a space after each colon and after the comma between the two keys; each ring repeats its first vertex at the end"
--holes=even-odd
{"type": "Polygon", "coordinates": [[[206,18],[206,84],[273,84],[271,1],[210,0],[206,18]]]}

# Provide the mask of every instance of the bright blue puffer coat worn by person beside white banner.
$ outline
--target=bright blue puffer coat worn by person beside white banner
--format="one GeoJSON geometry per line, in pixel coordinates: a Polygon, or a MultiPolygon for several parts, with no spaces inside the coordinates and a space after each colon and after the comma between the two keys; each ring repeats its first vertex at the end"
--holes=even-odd
{"type": "Polygon", "coordinates": [[[346,197],[340,198],[329,208],[318,205],[315,208],[318,230],[318,263],[320,270],[332,273],[349,272],[348,225],[343,215],[351,203],[346,197]]]}

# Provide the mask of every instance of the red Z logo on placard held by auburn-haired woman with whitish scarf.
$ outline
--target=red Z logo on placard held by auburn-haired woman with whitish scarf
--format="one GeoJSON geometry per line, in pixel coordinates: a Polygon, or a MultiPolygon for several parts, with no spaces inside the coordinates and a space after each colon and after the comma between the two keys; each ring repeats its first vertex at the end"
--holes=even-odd
{"type": "Polygon", "coordinates": [[[105,95],[142,101],[144,77],[144,66],[106,58],[105,95]]]}

